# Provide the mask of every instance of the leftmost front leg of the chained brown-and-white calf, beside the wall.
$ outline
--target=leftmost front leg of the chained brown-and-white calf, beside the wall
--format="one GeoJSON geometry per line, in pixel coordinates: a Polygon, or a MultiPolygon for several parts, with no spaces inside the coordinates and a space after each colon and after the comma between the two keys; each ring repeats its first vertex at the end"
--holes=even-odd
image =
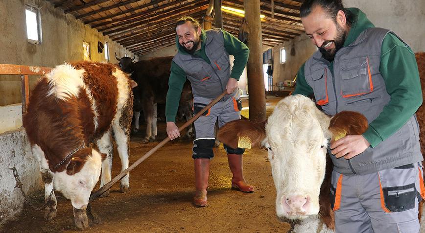
{"type": "Polygon", "coordinates": [[[50,221],[56,217],[56,196],[53,191],[53,172],[50,171],[43,150],[37,145],[32,146],[32,153],[40,164],[40,172],[43,183],[45,184],[45,220],[50,221]],[[50,197],[50,194],[52,196],[50,197]]]}

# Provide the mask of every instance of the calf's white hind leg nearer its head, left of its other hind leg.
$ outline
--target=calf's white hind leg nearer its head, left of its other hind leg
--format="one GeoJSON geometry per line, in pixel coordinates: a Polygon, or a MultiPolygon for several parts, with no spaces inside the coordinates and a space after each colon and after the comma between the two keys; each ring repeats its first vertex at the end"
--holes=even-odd
{"type": "MultiPolygon", "coordinates": [[[[111,181],[111,169],[113,158],[113,145],[111,142],[111,131],[103,134],[102,138],[97,140],[97,147],[101,153],[106,154],[106,158],[102,161],[102,175],[100,177],[100,187],[111,181]]],[[[109,189],[105,191],[101,197],[109,196],[109,189]]]]}

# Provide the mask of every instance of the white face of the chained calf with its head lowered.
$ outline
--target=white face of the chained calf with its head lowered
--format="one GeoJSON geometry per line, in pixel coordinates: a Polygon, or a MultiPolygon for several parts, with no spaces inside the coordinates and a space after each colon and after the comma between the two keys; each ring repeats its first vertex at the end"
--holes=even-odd
{"type": "Polygon", "coordinates": [[[101,166],[101,155],[92,149],[91,155],[87,156],[83,168],[78,173],[68,175],[66,170],[54,173],[55,189],[70,199],[73,207],[85,209],[91,191],[99,180],[101,166]]]}

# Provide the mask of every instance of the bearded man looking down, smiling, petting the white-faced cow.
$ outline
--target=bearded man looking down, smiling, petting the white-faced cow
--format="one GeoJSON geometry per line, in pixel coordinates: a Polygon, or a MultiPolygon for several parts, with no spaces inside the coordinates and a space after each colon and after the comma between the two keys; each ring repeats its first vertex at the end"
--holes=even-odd
{"type": "Polygon", "coordinates": [[[329,146],[336,232],[419,232],[422,91],[412,49],[341,0],[306,0],[300,13],[319,51],[301,66],[293,94],[314,94],[328,115],[357,111],[369,122],[363,135],[329,146]]]}

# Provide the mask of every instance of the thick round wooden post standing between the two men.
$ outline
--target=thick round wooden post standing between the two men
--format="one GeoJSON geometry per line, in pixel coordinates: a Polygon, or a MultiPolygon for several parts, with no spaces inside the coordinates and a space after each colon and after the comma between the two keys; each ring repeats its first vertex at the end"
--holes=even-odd
{"type": "Polygon", "coordinates": [[[266,120],[266,90],[263,78],[260,0],[244,0],[245,21],[249,28],[250,50],[246,72],[249,92],[249,120],[266,120]]]}

